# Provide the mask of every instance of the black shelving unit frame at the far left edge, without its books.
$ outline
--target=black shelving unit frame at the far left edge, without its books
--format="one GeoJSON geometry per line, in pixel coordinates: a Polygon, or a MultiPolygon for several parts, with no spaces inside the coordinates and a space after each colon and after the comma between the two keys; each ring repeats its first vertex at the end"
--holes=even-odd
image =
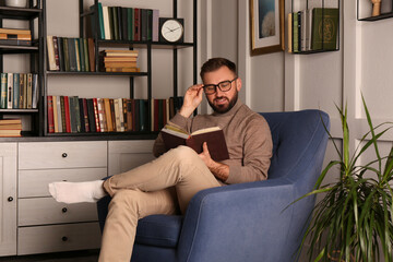
{"type": "MultiPolygon", "coordinates": [[[[15,56],[20,53],[26,53],[29,58],[29,72],[36,73],[37,76],[37,86],[38,86],[38,105],[37,108],[0,108],[0,119],[5,118],[22,118],[24,122],[24,129],[22,135],[24,136],[37,136],[43,133],[43,119],[41,119],[41,108],[43,103],[40,100],[40,92],[43,86],[43,68],[44,60],[43,58],[43,25],[45,24],[45,15],[43,14],[43,5],[45,5],[45,0],[29,0],[28,8],[10,8],[10,7],[0,7],[0,27],[3,27],[4,20],[21,20],[27,21],[27,29],[31,31],[32,35],[32,45],[29,46],[17,46],[17,45],[0,45],[0,71],[2,73],[7,71],[4,67],[4,57],[5,56],[15,56]],[[35,23],[37,26],[35,26],[35,23]],[[35,32],[37,31],[37,32],[35,32]],[[26,128],[27,127],[27,128],[26,128]]],[[[15,72],[23,73],[23,72],[15,72]]]]}

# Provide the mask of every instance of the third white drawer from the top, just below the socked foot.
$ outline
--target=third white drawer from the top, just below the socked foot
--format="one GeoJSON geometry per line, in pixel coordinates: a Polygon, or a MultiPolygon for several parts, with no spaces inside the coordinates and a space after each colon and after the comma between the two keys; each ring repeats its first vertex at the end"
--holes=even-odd
{"type": "Polygon", "coordinates": [[[98,221],[95,203],[68,205],[52,198],[20,199],[17,210],[19,226],[98,221]]]}

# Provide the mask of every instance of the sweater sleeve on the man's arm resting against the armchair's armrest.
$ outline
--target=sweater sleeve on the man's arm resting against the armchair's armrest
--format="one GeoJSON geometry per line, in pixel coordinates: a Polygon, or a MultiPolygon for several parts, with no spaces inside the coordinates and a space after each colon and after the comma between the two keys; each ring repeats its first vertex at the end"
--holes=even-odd
{"type": "Polygon", "coordinates": [[[267,179],[272,151],[272,134],[266,120],[252,119],[246,127],[242,165],[229,162],[229,177],[225,182],[242,183],[267,179]]]}

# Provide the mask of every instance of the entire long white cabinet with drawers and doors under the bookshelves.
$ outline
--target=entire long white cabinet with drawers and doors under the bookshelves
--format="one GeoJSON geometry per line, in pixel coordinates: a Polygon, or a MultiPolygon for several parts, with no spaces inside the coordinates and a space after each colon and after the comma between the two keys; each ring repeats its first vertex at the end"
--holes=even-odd
{"type": "Polygon", "coordinates": [[[127,171],[154,159],[153,143],[0,143],[0,257],[99,248],[96,204],[58,203],[48,183],[127,171]]]}

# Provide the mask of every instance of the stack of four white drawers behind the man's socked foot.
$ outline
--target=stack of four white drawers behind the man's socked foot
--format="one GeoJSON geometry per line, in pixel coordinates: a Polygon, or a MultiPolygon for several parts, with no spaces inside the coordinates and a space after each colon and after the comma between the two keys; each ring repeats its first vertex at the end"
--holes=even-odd
{"type": "Polygon", "coordinates": [[[96,204],[58,203],[48,183],[102,179],[107,166],[107,141],[19,143],[17,254],[99,248],[96,204]]]}

